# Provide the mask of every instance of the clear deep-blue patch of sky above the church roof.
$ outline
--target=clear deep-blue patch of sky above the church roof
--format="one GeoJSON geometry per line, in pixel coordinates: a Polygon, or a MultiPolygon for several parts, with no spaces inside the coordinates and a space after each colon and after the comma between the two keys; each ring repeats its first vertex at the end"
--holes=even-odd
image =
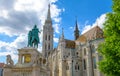
{"type": "MultiPolygon", "coordinates": [[[[59,0],[57,2],[59,7],[64,7],[65,12],[62,16],[62,27],[65,28],[65,34],[69,35],[66,38],[71,38],[71,32],[67,32],[68,28],[75,26],[75,20],[79,23],[80,32],[83,31],[85,23],[92,25],[96,19],[102,14],[111,12],[111,0],[59,0]]],[[[71,39],[74,39],[73,37],[71,39]]]]}

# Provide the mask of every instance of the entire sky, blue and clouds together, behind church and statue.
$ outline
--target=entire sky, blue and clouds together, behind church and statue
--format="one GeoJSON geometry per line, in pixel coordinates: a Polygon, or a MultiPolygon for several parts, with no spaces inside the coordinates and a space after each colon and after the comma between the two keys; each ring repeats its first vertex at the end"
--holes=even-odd
{"type": "MultiPolygon", "coordinates": [[[[65,38],[74,40],[76,17],[80,33],[96,25],[102,28],[112,5],[111,0],[0,0],[0,62],[5,62],[7,54],[17,60],[17,49],[27,45],[28,31],[34,24],[42,29],[49,2],[55,47],[62,28],[65,38]]],[[[41,50],[41,45],[38,49],[41,50]]]]}

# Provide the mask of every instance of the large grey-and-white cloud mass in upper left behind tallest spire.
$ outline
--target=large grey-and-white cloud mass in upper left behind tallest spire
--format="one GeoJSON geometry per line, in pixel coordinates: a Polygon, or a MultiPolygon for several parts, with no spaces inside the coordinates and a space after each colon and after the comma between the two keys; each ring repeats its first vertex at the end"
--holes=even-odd
{"type": "MultiPolygon", "coordinates": [[[[55,23],[59,23],[61,18],[60,13],[63,12],[56,4],[57,0],[10,0],[9,6],[4,5],[4,8],[0,10],[0,33],[5,33],[9,36],[19,35],[21,33],[27,33],[34,24],[43,26],[48,3],[51,4],[51,17],[55,23]],[[19,28],[19,29],[18,29],[19,28]]],[[[0,7],[3,7],[6,1],[2,0],[0,7]]]]}

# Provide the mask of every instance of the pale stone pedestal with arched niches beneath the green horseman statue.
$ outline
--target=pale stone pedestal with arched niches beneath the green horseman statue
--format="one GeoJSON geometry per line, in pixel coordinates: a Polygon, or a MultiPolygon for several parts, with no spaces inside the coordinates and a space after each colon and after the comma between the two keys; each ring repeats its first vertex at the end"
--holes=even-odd
{"type": "Polygon", "coordinates": [[[25,47],[18,49],[18,62],[15,65],[6,65],[3,76],[49,76],[45,59],[35,48],[25,47]]]}

